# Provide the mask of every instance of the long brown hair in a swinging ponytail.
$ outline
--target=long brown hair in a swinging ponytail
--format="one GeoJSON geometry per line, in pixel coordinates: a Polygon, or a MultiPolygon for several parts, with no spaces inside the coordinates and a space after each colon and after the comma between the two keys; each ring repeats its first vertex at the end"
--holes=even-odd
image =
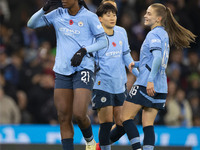
{"type": "Polygon", "coordinates": [[[190,47],[191,42],[195,42],[196,35],[176,21],[170,8],[160,3],[154,3],[151,7],[155,9],[158,16],[162,17],[161,24],[169,35],[170,45],[177,48],[187,48],[190,47]]]}

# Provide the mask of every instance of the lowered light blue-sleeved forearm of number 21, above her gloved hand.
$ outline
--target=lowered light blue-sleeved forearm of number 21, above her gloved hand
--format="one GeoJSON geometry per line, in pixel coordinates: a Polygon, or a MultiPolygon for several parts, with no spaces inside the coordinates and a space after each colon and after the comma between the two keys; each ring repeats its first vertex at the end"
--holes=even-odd
{"type": "Polygon", "coordinates": [[[86,46],[85,49],[88,53],[95,52],[101,49],[104,49],[108,46],[108,40],[106,38],[106,35],[103,35],[96,39],[96,42],[92,45],[86,46]]]}

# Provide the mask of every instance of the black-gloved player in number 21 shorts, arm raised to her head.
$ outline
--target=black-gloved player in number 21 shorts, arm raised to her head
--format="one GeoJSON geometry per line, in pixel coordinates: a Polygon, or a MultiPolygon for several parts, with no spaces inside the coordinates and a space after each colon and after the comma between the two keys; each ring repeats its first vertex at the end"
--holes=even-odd
{"type": "Polygon", "coordinates": [[[108,42],[98,17],[85,8],[87,6],[83,0],[62,0],[63,8],[45,15],[58,2],[48,0],[30,18],[28,27],[35,29],[53,25],[56,31],[54,102],[58,111],[63,150],[74,149],[72,116],[87,142],[86,150],[96,150],[87,116],[94,82],[94,58],[88,53],[107,47],[108,42]]]}

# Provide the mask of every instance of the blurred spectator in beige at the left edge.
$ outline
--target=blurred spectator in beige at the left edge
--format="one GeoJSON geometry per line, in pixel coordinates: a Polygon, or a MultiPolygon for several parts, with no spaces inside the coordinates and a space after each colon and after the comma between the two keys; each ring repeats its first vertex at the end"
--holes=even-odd
{"type": "Polygon", "coordinates": [[[19,124],[21,115],[15,101],[0,86],[0,124],[19,124]]]}

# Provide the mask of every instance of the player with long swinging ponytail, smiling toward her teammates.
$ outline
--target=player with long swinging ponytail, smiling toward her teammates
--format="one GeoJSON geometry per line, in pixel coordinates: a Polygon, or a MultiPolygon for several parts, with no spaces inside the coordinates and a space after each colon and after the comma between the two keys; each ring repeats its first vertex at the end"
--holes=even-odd
{"type": "Polygon", "coordinates": [[[167,78],[165,69],[170,45],[183,48],[194,42],[195,35],[174,19],[171,10],[155,3],[148,7],[144,24],[151,28],[140,50],[139,76],[122,109],[122,122],[133,150],[141,150],[138,130],[133,122],[140,109],[144,131],[143,150],[153,150],[154,120],[159,109],[165,107],[167,78]]]}

